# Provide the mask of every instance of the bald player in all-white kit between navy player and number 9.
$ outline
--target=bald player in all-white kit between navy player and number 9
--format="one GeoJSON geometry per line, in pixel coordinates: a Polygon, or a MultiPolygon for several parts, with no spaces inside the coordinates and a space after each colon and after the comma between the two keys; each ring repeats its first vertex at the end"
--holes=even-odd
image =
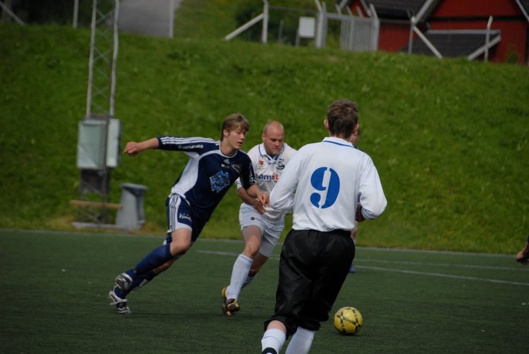
{"type": "MultiPolygon", "coordinates": [[[[286,164],[296,149],[284,142],[285,131],[278,121],[270,121],[262,130],[262,143],[248,152],[255,171],[255,183],[262,192],[270,193],[286,164]]],[[[275,210],[263,206],[250,197],[237,181],[237,193],[243,200],[239,210],[243,252],[233,263],[229,286],[222,289],[222,311],[231,316],[241,309],[238,304],[243,287],[253,281],[255,275],[272,255],[284,228],[288,210],[275,210]]]]}

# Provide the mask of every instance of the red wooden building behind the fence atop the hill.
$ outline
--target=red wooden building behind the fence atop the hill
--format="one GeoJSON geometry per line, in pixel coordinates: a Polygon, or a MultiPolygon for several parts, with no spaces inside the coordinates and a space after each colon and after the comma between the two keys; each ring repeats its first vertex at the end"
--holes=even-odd
{"type": "Polygon", "coordinates": [[[357,16],[379,18],[379,50],[529,64],[529,0],[350,0],[348,6],[357,16]]]}

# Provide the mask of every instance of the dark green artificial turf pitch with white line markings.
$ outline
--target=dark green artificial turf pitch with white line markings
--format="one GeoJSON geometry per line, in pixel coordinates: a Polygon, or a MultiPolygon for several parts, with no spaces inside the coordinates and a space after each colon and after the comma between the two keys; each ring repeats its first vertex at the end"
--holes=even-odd
{"type": "MultiPolygon", "coordinates": [[[[274,310],[279,248],[221,312],[221,288],[242,243],[197,240],[174,266],[128,297],[114,277],[162,242],[152,236],[0,230],[1,353],[259,353],[274,310]]],[[[356,336],[322,323],[311,353],[523,353],[528,271],[513,257],[358,248],[334,304],[354,306],[356,336]]]]}

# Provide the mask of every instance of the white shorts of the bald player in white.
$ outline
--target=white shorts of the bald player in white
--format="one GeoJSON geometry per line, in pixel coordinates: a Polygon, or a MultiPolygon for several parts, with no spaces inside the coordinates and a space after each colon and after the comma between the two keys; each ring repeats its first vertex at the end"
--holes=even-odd
{"type": "Polygon", "coordinates": [[[239,209],[239,223],[241,224],[241,231],[247,226],[257,226],[261,229],[262,236],[259,252],[269,258],[279,242],[281,232],[283,232],[284,219],[281,219],[280,223],[272,224],[265,220],[257,210],[241,205],[241,209],[239,209]]]}

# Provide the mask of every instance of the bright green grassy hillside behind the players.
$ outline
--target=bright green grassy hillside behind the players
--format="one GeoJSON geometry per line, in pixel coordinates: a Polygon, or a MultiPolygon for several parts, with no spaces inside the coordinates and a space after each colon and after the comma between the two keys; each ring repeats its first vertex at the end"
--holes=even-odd
{"type": "MultiPolygon", "coordinates": [[[[219,137],[240,111],[245,149],[271,118],[293,147],[321,140],[328,104],[360,106],[360,147],[389,205],[361,224],[362,246],[513,253],[529,232],[529,71],[521,66],[257,44],[221,37],[120,35],[122,145],[157,135],[219,137]]],[[[0,227],[71,229],[78,122],[90,32],[0,25],[0,227]]],[[[162,235],[181,153],[123,157],[111,178],[147,185],[142,232],[162,235]]],[[[229,193],[201,237],[239,238],[229,193]]]]}

